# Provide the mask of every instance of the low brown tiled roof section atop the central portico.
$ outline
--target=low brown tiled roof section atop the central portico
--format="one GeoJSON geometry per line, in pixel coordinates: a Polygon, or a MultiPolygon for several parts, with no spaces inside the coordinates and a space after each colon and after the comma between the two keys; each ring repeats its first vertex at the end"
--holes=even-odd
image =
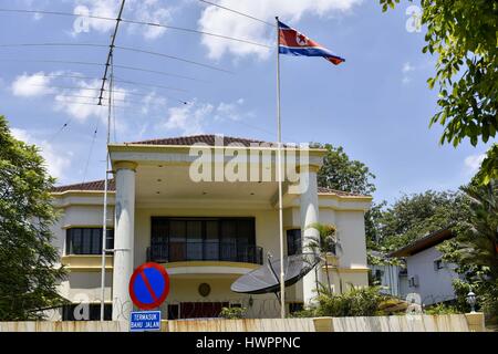
{"type": "MultiPolygon", "coordinates": [[[[180,146],[189,146],[194,144],[206,144],[209,146],[215,146],[215,137],[216,135],[191,135],[191,136],[180,136],[180,137],[167,137],[160,139],[151,139],[143,142],[133,142],[127,144],[141,144],[141,145],[180,145],[180,146]]],[[[221,137],[221,136],[220,136],[221,137]]],[[[263,140],[256,139],[246,139],[240,137],[232,136],[222,136],[224,144],[227,146],[230,145],[240,145],[240,146],[251,146],[251,144],[272,144],[263,140]]]]}

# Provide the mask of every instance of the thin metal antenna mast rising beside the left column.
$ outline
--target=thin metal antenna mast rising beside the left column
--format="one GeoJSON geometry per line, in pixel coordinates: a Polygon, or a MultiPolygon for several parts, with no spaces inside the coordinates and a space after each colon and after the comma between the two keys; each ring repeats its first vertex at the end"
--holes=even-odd
{"type": "Polygon", "coordinates": [[[105,308],[105,254],[107,239],[107,194],[108,194],[108,144],[111,143],[112,94],[114,84],[113,54],[111,54],[111,77],[108,82],[107,138],[105,144],[104,217],[102,221],[102,269],[101,269],[101,321],[104,321],[105,308]]]}

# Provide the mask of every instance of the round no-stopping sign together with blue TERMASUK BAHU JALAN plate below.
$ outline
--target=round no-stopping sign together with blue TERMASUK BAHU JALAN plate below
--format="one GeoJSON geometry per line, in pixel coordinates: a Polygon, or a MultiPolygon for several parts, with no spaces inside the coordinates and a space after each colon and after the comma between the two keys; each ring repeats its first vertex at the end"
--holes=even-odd
{"type": "Polygon", "coordinates": [[[160,306],[169,293],[169,275],[157,263],[144,263],[129,279],[129,298],[141,310],[133,311],[129,317],[129,331],[160,331],[160,311],[149,311],[160,306]]]}

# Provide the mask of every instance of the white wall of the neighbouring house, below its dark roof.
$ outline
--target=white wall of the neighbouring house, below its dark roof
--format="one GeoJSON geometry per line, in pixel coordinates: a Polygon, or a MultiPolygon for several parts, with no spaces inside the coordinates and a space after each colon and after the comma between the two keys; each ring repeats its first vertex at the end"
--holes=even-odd
{"type": "Polygon", "coordinates": [[[434,270],[434,261],[440,257],[442,253],[432,247],[406,259],[408,280],[418,277],[418,287],[409,287],[408,291],[418,293],[425,305],[455,299],[452,281],[458,278],[458,274],[453,271],[453,264],[434,270]]]}

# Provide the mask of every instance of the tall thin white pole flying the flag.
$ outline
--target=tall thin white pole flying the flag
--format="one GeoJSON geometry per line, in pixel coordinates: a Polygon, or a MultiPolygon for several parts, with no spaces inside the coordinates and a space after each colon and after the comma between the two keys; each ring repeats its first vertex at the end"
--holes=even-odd
{"type": "Polygon", "coordinates": [[[278,181],[279,181],[279,235],[280,235],[280,316],[286,317],[286,273],[283,270],[283,204],[282,204],[282,123],[280,118],[280,28],[279,18],[277,22],[277,135],[278,135],[278,181]]]}

